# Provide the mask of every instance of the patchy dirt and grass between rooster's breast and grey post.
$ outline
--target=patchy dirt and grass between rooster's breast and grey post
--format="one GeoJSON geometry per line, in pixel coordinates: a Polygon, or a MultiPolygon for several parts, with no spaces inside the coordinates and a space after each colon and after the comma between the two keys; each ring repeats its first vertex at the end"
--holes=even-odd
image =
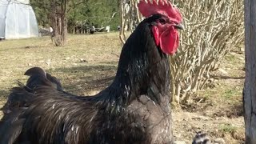
{"type": "Polygon", "coordinates": [[[242,88],[245,77],[244,54],[231,53],[205,90],[198,90],[190,102],[175,110],[174,136],[191,143],[195,131],[204,131],[226,143],[244,143],[242,88]]]}

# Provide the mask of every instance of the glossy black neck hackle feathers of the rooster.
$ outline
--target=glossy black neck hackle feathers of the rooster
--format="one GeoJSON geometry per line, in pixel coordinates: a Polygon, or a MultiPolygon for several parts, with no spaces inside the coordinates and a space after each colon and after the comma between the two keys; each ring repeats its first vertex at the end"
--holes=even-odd
{"type": "MultiPolygon", "coordinates": [[[[155,14],[141,22],[122,48],[118,71],[109,89],[121,93],[123,104],[129,105],[141,94],[158,94],[150,90],[152,82],[156,82],[162,93],[170,92],[166,89],[170,84],[169,61],[167,55],[155,45],[150,28],[151,23],[160,17],[160,14],[155,14]]],[[[159,101],[157,97],[152,97],[152,100],[159,101]]]]}

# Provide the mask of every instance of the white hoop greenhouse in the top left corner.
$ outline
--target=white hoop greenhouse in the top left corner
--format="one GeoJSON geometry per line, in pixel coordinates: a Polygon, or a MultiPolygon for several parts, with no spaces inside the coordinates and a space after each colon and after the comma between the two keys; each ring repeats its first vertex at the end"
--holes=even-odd
{"type": "Polygon", "coordinates": [[[0,38],[38,37],[38,22],[29,0],[0,0],[0,38]]]}

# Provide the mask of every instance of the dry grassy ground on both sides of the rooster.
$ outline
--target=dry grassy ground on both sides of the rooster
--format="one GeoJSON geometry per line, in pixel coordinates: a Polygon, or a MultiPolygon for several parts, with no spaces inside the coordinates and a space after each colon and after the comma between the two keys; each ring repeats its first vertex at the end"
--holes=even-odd
{"type": "MultiPolygon", "coordinates": [[[[24,72],[40,66],[60,78],[66,91],[96,94],[113,80],[121,43],[117,33],[69,35],[67,45],[54,47],[49,37],[0,42],[0,105],[24,72]]],[[[244,54],[231,52],[212,75],[209,88],[194,94],[182,109],[174,108],[174,138],[191,143],[202,130],[226,143],[242,143],[244,54]]]]}

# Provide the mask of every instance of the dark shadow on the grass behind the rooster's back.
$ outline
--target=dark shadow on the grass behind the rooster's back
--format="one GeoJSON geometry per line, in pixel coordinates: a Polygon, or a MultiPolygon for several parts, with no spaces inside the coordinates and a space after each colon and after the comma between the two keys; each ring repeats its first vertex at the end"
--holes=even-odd
{"type": "Polygon", "coordinates": [[[64,89],[72,94],[88,95],[100,91],[114,80],[117,66],[76,66],[46,70],[61,79],[64,89]],[[58,74],[57,74],[58,73],[58,74]]]}

